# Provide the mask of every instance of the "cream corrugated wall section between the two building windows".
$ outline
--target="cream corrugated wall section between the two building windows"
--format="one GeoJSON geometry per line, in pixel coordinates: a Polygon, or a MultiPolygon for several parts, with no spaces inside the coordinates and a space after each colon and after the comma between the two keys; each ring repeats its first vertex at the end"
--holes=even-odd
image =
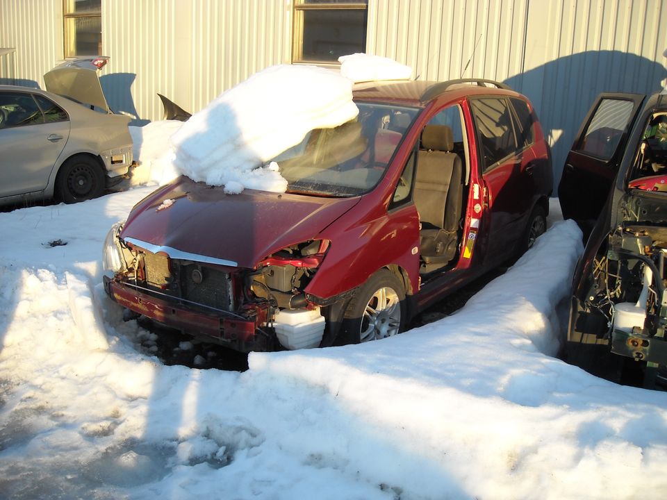
{"type": "Polygon", "coordinates": [[[106,0],[101,78],[111,106],[160,119],[157,92],[197,111],[251,74],[289,60],[281,0],[106,0]]]}

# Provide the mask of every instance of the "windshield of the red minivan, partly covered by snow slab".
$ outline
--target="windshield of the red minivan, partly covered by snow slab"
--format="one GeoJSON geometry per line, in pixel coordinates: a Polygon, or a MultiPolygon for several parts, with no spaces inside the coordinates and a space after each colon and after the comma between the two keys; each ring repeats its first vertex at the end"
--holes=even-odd
{"type": "Polygon", "coordinates": [[[274,158],[288,191],[349,197],[377,185],[419,110],[357,106],[356,119],[310,131],[300,144],[274,158]]]}

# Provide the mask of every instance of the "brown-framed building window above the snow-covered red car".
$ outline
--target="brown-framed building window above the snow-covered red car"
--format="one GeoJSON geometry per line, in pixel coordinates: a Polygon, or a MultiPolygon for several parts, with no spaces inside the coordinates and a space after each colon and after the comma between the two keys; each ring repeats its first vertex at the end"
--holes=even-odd
{"type": "Polygon", "coordinates": [[[368,0],[295,0],[293,63],[338,63],[366,51],[368,0]]]}

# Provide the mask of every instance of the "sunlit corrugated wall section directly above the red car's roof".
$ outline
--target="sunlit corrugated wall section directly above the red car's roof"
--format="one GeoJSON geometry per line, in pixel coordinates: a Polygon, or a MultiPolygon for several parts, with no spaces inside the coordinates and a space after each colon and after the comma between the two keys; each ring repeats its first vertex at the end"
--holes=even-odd
{"type": "Polygon", "coordinates": [[[420,80],[503,80],[522,69],[528,0],[371,0],[367,50],[420,80]]]}

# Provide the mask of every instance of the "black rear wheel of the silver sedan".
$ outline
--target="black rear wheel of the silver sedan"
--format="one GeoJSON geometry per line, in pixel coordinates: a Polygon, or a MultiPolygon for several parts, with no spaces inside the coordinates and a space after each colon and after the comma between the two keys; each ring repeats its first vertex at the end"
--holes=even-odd
{"type": "Polygon", "coordinates": [[[56,176],[56,199],[76,203],[104,194],[105,178],[99,163],[89,156],[69,158],[56,176]]]}

